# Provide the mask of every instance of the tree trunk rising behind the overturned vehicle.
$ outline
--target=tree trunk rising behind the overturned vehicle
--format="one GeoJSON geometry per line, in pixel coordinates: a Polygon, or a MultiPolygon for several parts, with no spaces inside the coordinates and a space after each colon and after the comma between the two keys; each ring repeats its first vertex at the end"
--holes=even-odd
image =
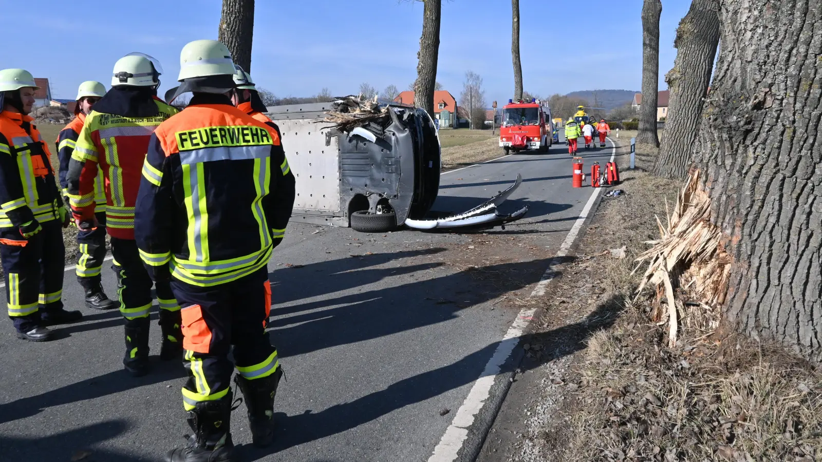
{"type": "MultiPolygon", "coordinates": [[[[417,81],[414,84],[413,104],[434,117],[434,87],[436,86],[436,58],[440,53],[441,0],[424,0],[423,35],[419,38],[417,53],[417,81]]],[[[455,111],[456,112],[456,111],[455,111]]]]}

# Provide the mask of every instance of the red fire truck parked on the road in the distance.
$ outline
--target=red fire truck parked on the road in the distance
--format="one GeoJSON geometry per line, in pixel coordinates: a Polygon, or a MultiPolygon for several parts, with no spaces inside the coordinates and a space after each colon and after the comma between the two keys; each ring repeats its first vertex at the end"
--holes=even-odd
{"type": "Polygon", "coordinates": [[[552,144],[551,109],[538,99],[509,99],[502,107],[500,147],[511,151],[536,150],[547,152],[552,144]]]}

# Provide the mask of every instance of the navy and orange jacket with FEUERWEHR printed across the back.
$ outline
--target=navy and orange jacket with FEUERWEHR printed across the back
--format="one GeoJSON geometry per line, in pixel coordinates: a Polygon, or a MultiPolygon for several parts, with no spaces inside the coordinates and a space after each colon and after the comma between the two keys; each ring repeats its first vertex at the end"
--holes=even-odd
{"type": "Polygon", "coordinates": [[[196,95],[151,137],[137,247],[147,265],[187,284],[237,280],[266,266],[294,194],[278,133],[223,95],[196,95]]]}

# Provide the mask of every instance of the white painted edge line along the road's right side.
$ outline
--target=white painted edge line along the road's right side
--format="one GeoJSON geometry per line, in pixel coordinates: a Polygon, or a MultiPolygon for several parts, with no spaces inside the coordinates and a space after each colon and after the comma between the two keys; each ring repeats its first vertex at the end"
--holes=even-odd
{"type": "MultiPolygon", "coordinates": [[[[607,140],[610,141],[612,145],[611,162],[613,162],[614,158],[617,156],[617,143],[615,143],[610,137],[608,137],[607,140]]],[[[580,217],[577,218],[574,225],[571,226],[568,234],[566,234],[566,238],[560,245],[560,249],[556,252],[556,256],[553,256],[550,261],[556,261],[556,259],[568,255],[571,247],[573,247],[576,241],[576,238],[580,234],[580,229],[582,229],[585,221],[589,219],[591,210],[596,210],[594,208],[594,204],[597,203],[597,200],[600,198],[599,192],[601,192],[602,189],[603,187],[597,187],[593,190],[588,202],[585,203],[585,206],[580,213],[580,217]]],[[[543,295],[547,289],[547,285],[554,279],[554,275],[555,273],[554,270],[552,270],[552,265],[549,264],[543,273],[543,276],[537,283],[537,286],[534,287],[533,291],[529,295],[529,298],[543,295]]],[[[514,321],[511,323],[511,326],[508,328],[506,335],[502,337],[500,344],[496,346],[496,350],[494,350],[494,354],[491,359],[489,359],[486,363],[483,372],[480,374],[477,381],[474,381],[471,390],[469,390],[468,396],[466,396],[463,401],[463,404],[459,406],[459,409],[457,409],[454,420],[451,421],[451,424],[448,428],[446,428],[446,432],[442,435],[440,442],[437,443],[433,454],[428,458],[428,462],[454,462],[458,459],[469,461],[477,458],[479,451],[483,448],[487,433],[491,430],[494,420],[496,419],[496,414],[499,413],[503,402],[505,402],[505,397],[508,394],[508,390],[510,389],[510,384],[512,382],[508,379],[511,379],[514,376],[513,371],[502,375],[502,366],[508,362],[511,353],[513,353],[516,346],[520,344],[520,337],[522,336],[524,330],[528,328],[531,319],[533,318],[533,314],[536,311],[536,307],[523,308],[517,314],[514,321]],[[491,395],[491,389],[494,386],[497,377],[506,378],[506,381],[501,387],[502,390],[498,392],[499,396],[495,398],[491,395]],[[492,418],[486,419],[486,427],[479,431],[480,437],[474,438],[472,441],[472,447],[469,448],[469,450],[464,450],[462,455],[460,455],[459,451],[464,448],[464,443],[469,438],[471,426],[476,420],[478,414],[483,410],[483,406],[488,400],[494,400],[492,418]]],[[[522,356],[523,355],[520,355],[520,358],[515,358],[516,364],[519,365],[522,356]]]]}

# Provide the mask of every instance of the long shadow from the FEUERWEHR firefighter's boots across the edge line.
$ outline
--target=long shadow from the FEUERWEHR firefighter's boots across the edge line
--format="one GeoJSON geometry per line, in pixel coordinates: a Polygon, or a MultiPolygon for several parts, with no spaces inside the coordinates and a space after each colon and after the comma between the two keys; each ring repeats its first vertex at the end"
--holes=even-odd
{"type": "MultiPolygon", "coordinates": [[[[561,358],[584,349],[586,340],[593,333],[612,326],[617,319],[618,312],[618,303],[609,301],[599,305],[582,321],[550,330],[541,334],[540,338],[546,345],[553,346],[552,350],[548,350],[552,352],[551,359],[561,358]],[[561,347],[556,345],[561,345],[561,347]]],[[[519,344],[520,338],[504,341],[519,344]]],[[[261,460],[266,455],[279,450],[345,432],[380,418],[395,409],[428,400],[469,384],[481,376],[488,358],[492,357],[501,343],[489,344],[455,363],[398,381],[385,390],[376,391],[349,403],[337,404],[321,412],[313,412],[309,409],[292,416],[278,414],[276,417],[278,426],[284,430],[279,433],[274,447],[270,450],[257,450],[252,446],[241,446],[239,453],[243,455],[243,460],[261,460]]],[[[538,365],[539,363],[536,362],[524,363],[526,368],[538,365]]],[[[517,366],[518,364],[509,361],[502,372],[511,372],[517,366]]]]}

